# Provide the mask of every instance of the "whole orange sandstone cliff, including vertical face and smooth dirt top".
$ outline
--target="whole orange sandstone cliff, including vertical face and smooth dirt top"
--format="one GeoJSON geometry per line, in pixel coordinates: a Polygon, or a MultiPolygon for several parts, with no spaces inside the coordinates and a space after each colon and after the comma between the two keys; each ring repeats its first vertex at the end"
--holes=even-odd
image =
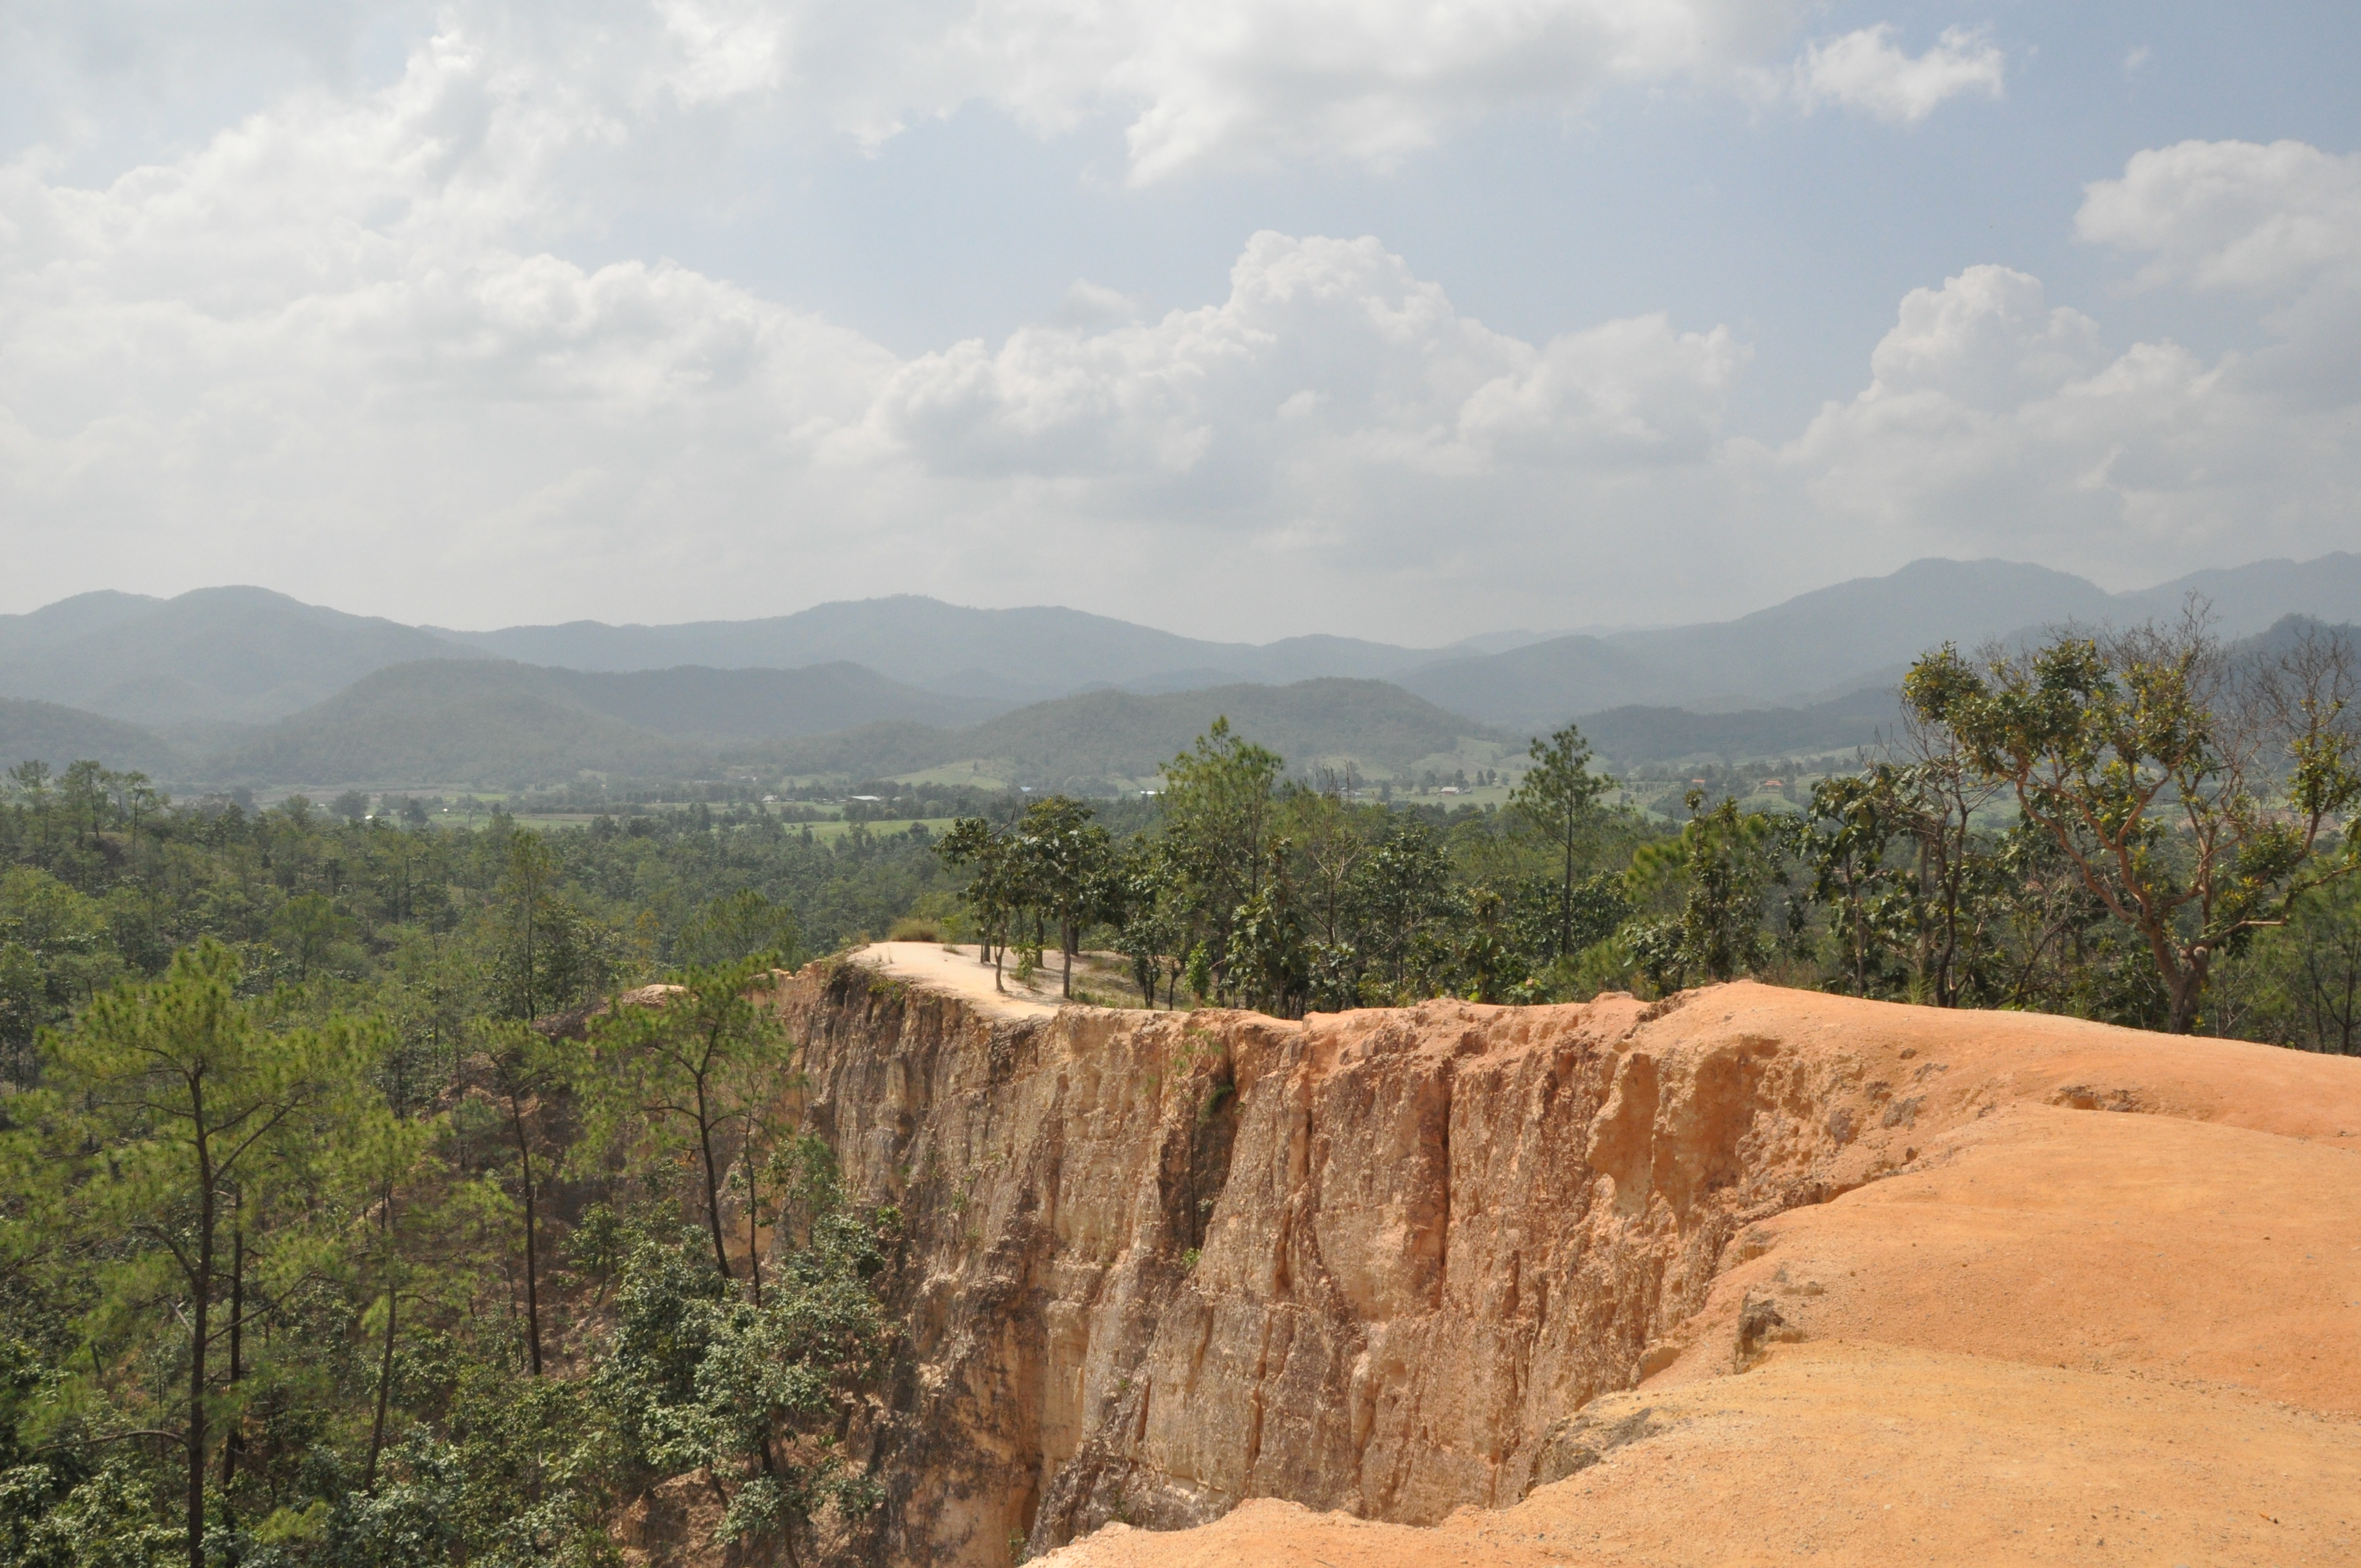
{"type": "Polygon", "coordinates": [[[2361,1561],[2361,1060],[949,963],[779,997],[909,1226],[857,1561],[2361,1561]]]}

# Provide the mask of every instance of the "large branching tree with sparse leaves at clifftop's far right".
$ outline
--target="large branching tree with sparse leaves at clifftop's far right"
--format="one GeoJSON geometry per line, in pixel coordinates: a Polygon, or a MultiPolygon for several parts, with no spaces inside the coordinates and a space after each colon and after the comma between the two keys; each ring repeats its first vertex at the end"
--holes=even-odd
{"type": "Polygon", "coordinates": [[[2361,801],[2356,671],[2340,638],[2234,659],[2179,626],[2064,635],[1983,671],[1953,647],[1903,697],[2007,784],[2026,819],[2149,949],[2186,1034],[2217,959],[2361,860],[2319,855],[2361,801]]]}

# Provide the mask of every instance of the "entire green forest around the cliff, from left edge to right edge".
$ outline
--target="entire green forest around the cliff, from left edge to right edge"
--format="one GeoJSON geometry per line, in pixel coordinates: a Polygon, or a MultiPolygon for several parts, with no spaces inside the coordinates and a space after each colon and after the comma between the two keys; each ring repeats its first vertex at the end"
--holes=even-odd
{"type": "Polygon", "coordinates": [[[930,796],[963,812],[940,836],[19,767],[0,1563],[604,1563],[678,1476],[810,1561],[878,1495],[845,1438],[895,1353],[897,1216],[781,1115],[760,997],[859,937],[1003,973],[1114,949],[1133,1006],[1759,975],[2361,1051],[2352,699],[2314,640],[1945,649],[1882,756],[1676,822],[1617,805],[1575,727],[1476,808],[1214,723],[1155,798],[930,796]]]}

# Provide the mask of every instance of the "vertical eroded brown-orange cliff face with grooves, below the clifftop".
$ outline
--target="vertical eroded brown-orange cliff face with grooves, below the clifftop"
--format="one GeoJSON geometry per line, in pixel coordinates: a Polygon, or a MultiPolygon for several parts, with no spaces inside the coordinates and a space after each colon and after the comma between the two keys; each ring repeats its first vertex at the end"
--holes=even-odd
{"type": "Polygon", "coordinates": [[[1733,1235],[1903,1167],[1943,1096],[1750,1030],[1745,992],[994,1018],[805,971],[810,1126],[909,1228],[907,1370],[859,1438],[890,1502],[848,1544],[1516,1502],[1556,1424],[1679,1355],[1733,1235]]]}

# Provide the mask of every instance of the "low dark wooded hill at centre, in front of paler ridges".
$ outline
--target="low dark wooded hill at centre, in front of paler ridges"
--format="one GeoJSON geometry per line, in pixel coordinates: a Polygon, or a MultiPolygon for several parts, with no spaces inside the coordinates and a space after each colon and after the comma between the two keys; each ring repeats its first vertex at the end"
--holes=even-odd
{"type": "Polygon", "coordinates": [[[1155,777],[1216,718],[1228,718],[1235,732],[1277,751],[1294,767],[1353,758],[1362,767],[1398,770],[1457,749],[1461,737],[1499,739],[1497,732],[1384,680],[1325,678],[1197,692],[1081,692],[968,730],[869,725],[732,756],[789,772],[859,777],[982,760],[1001,777],[1062,786],[1155,777]]]}

